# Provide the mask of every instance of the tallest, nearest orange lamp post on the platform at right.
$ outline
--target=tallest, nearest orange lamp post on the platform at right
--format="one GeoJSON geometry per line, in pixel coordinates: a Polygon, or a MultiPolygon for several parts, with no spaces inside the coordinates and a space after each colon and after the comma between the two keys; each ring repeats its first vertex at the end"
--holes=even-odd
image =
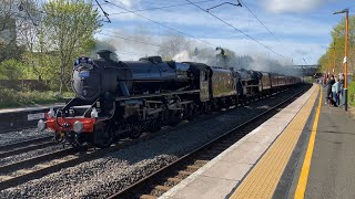
{"type": "Polygon", "coordinates": [[[347,112],[347,54],[348,54],[348,9],[333,12],[333,14],[345,13],[345,56],[344,56],[344,108],[347,112]]]}

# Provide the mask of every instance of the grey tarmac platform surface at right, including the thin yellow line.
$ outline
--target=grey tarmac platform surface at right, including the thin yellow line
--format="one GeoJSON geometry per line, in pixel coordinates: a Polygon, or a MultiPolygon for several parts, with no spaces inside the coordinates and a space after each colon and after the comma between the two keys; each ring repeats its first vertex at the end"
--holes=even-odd
{"type": "Polygon", "coordinates": [[[343,107],[325,104],[323,91],[317,127],[312,132],[314,148],[310,149],[312,142],[306,139],[288,198],[355,198],[355,121],[343,107]],[[306,165],[305,154],[311,150],[306,165]],[[301,170],[308,174],[300,175],[301,170]]]}

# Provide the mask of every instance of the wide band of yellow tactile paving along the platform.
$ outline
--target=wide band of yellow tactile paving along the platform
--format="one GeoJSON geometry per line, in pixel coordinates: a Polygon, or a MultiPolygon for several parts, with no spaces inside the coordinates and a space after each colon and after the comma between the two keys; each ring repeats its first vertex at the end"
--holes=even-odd
{"type": "Polygon", "coordinates": [[[231,196],[232,199],[272,198],[308,116],[311,115],[318,91],[320,87],[315,87],[296,116],[233,192],[231,196]]]}

